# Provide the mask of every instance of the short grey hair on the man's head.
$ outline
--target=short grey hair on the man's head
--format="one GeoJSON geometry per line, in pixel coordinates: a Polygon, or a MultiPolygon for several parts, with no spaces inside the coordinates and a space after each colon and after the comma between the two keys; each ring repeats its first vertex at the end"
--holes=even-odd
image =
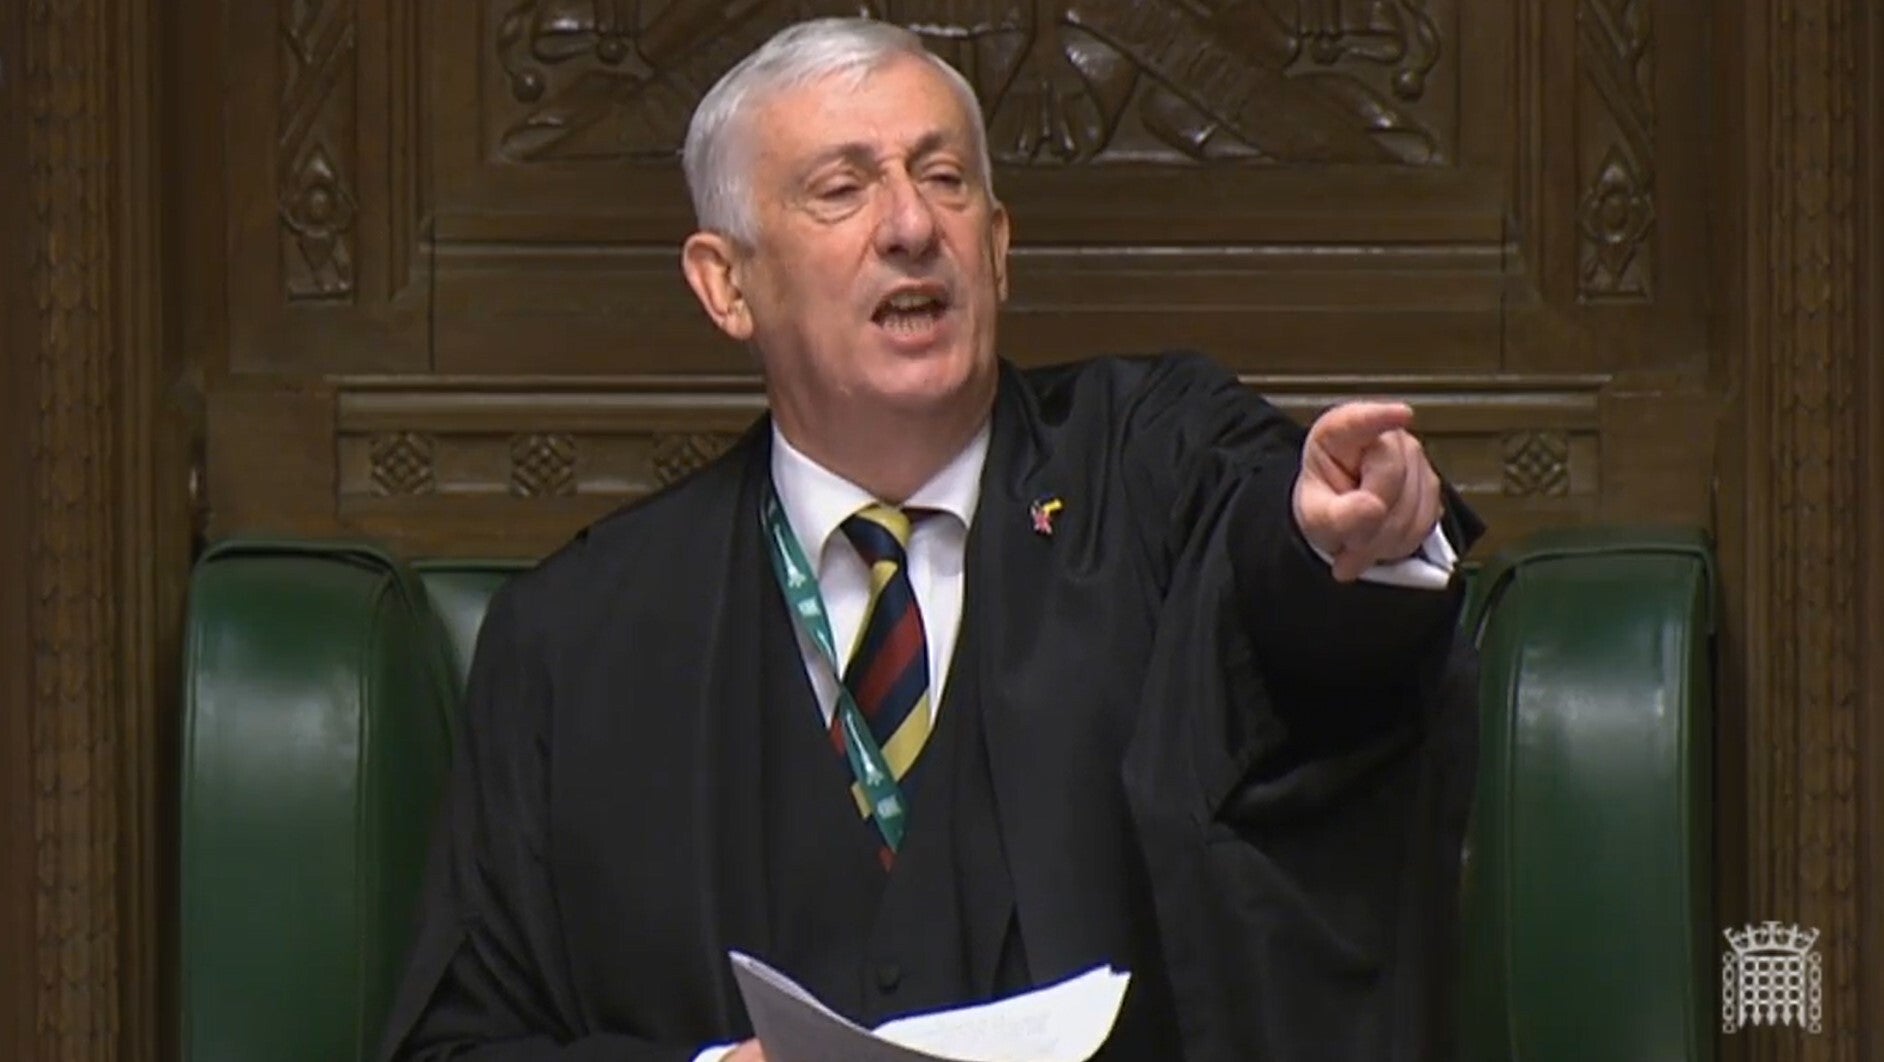
{"type": "Polygon", "coordinates": [[[982,188],[993,196],[995,175],[987,158],[982,104],[961,72],[923,47],[919,36],[893,23],[812,19],[786,26],[759,45],[714,83],[693,109],[688,139],[680,149],[680,166],[688,177],[688,194],[693,196],[697,224],[746,247],[757,241],[750,153],[742,151],[750,141],[744,126],[754,104],[825,77],[846,77],[855,88],[865,77],[901,56],[921,56],[934,64],[972,117],[968,124],[974,128],[982,188]]]}

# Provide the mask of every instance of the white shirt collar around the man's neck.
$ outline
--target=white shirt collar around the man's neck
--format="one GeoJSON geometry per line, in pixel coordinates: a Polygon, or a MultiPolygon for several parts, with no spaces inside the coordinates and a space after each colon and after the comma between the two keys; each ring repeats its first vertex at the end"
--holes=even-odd
{"type": "MultiPolygon", "coordinates": [[[[948,512],[963,529],[970,527],[982,501],[982,465],[987,463],[991,424],[982,424],[974,439],[902,507],[948,512]]],[[[806,458],[778,429],[778,422],[772,422],[772,486],[778,488],[778,503],[791,533],[799,537],[799,548],[812,563],[823,557],[831,535],[850,514],[876,501],[870,491],[806,458]]]]}

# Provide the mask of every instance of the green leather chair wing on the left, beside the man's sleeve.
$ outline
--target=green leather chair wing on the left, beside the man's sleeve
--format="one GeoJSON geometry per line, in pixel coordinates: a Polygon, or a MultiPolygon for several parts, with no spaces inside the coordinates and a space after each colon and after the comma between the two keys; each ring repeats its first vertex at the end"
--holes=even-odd
{"type": "Polygon", "coordinates": [[[228,542],[190,582],[181,1036],[194,1062],[364,1058],[450,763],[420,584],[362,546],[228,542]]]}

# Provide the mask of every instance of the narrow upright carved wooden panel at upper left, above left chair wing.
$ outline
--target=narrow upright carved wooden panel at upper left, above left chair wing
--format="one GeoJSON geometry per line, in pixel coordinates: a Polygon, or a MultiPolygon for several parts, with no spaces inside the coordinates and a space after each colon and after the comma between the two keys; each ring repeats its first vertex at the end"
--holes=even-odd
{"type": "Polygon", "coordinates": [[[426,369],[418,9],[226,6],[232,367],[426,369]]]}

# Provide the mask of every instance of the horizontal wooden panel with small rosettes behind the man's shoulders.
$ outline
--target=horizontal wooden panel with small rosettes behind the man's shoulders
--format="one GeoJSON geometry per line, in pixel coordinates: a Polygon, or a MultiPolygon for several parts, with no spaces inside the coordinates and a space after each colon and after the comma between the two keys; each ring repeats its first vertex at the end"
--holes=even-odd
{"type": "MultiPolygon", "coordinates": [[[[1713,403],[1701,392],[1632,390],[1601,375],[1247,382],[1302,420],[1356,395],[1415,403],[1434,459],[1492,523],[1486,548],[1648,507],[1664,522],[1707,520],[1705,486],[1682,473],[1711,454],[1713,403]],[[1667,459],[1643,458],[1654,452],[1667,459]]],[[[712,459],[761,410],[752,378],[230,390],[209,418],[209,463],[222,469],[211,480],[211,535],[365,535],[414,554],[537,555],[712,459]]]]}

